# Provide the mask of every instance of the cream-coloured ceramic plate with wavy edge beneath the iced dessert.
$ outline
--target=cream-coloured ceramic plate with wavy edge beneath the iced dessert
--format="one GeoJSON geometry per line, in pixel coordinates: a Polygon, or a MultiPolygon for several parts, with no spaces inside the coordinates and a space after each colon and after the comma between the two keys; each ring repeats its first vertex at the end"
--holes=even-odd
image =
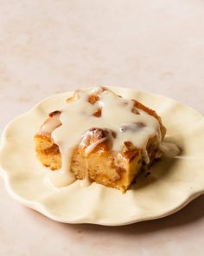
{"type": "Polygon", "coordinates": [[[126,194],[96,183],[80,187],[78,181],[61,189],[49,187],[45,182],[48,170],[35,157],[33,137],[48,113],[61,109],[73,92],[53,95],[4,129],[0,163],[10,195],[53,220],[117,226],[169,215],[203,193],[203,116],[161,95],[111,89],[155,109],[168,130],[167,140],[181,148],[180,155],[158,161],[151,167],[151,174],[141,175],[126,194]]]}

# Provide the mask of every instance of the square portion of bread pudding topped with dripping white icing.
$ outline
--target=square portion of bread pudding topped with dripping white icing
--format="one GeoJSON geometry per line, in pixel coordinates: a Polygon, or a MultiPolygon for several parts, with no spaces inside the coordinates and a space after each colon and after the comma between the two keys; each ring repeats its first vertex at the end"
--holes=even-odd
{"type": "Polygon", "coordinates": [[[162,156],[165,134],[161,118],[142,103],[105,87],[77,90],[44,121],[35,151],[56,174],[56,187],[95,181],[125,193],[162,156]]]}

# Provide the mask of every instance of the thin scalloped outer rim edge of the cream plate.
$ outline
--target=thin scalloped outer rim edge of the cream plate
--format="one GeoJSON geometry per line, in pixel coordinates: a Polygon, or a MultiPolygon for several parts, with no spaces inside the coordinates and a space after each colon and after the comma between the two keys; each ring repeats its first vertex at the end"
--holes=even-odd
{"type": "MultiPolygon", "coordinates": [[[[92,87],[88,87],[88,88],[85,88],[85,89],[90,89],[92,87]]],[[[108,88],[110,89],[114,89],[115,87],[114,86],[108,86],[108,88]]],[[[123,88],[123,87],[117,87],[117,89],[127,89],[127,90],[132,90],[134,92],[140,92],[140,93],[143,93],[143,94],[148,94],[148,95],[156,95],[156,96],[161,96],[163,98],[167,98],[167,99],[170,99],[171,101],[173,102],[176,102],[177,104],[180,104],[186,108],[190,108],[191,110],[194,110],[194,112],[197,114],[197,115],[201,115],[201,113],[199,113],[198,111],[196,111],[194,108],[192,107],[189,107],[188,105],[186,104],[183,104],[181,102],[178,102],[178,101],[175,101],[174,99],[171,99],[167,96],[164,96],[164,95],[159,95],[159,94],[154,94],[154,93],[150,93],[150,92],[147,92],[147,91],[142,91],[142,90],[137,90],[137,89],[131,89],[131,88],[123,88]]],[[[2,132],[2,135],[1,135],[1,141],[0,141],[0,153],[1,151],[3,151],[3,146],[4,144],[6,143],[6,131],[7,131],[7,128],[10,127],[10,125],[18,120],[20,117],[22,116],[26,116],[26,115],[29,115],[30,112],[32,112],[33,110],[35,110],[35,108],[38,108],[42,102],[45,102],[47,101],[48,99],[51,99],[53,98],[54,96],[56,95],[66,95],[67,93],[72,93],[73,91],[67,91],[67,92],[62,92],[62,93],[59,93],[59,94],[54,94],[54,95],[49,95],[48,97],[46,98],[43,98],[40,102],[37,102],[35,104],[34,107],[30,108],[28,111],[26,111],[25,113],[22,113],[21,115],[18,115],[16,116],[16,118],[14,118],[13,120],[11,120],[6,126],[5,128],[3,128],[3,132],[2,132]]],[[[203,115],[201,115],[201,117],[203,118],[203,115]]],[[[43,204],[41,202],[37,202],[37,201],[31,201],[31,200],[26,200],[24,199],[22,196],[16,194],[13,189],[12,189],[12,186],[10,185],[10,177],[9,175],[6,173],[6,171],[3,169],[2,165],[1,165],[1,162],[0,162],[0,176],[3,178],[3,183],[5,185],[5,188],[8,192],[8,194],[10,194],[10,196],[12,198],[14,198],[15,200],[19,201],[22,205],[26,206],[26,207],[29,207],[31,209],[34,209],[35,211],[47,216],[49,219],[51,220],[55,220],[55,221],[58,221],[58,222],[62,222],[62,223],[70,223],[70,224],[96,224],[96,225],[102,225],[102,226],[124,226],[124,225],[130,225],[130,224],[133,224],[133,223],[137,223],[137,222],[140,222],[140,221],[144,221],[144,220],[156,220],[156,219],[160,219],[160,218],[163,218],[163,217],[166,217],[166,216],[169,216],[170,214],[172,213],[176,213],[177,211],[179,211],[180,209],[182,209],[183,207],[185,207],[186,205],[188,205],[189,202],[191,202],[192,200],[194,200],[195,198],[197,198],[198,196],[200,196],[201,194],[204,194],[204,189],[202,190],[198,190],[198,191],[194,191],[192,192],[191,194],[188,194],[188,196],[186,197],[186,200],[183,200],[181,202],[180,205],[178,205],[177,207],[169,210],[169,211],[166,211],[166,212],[163,212],[163,214],[160,214],[160,215],[156,215],[156,216],[152,216],[150,218],[140,218],[140,219],[137,219],[137,220],[130,220],[130,221],[124,221],[124,222],[112,222],[112,223],[106,223],[106,222],[103,222],[103,221],[92,221],[92,222],[86,222],[86,221],[83,221],[83,220],[60,220],[58,216],[55,216],[54,214],[52,213],[48,213],[48,210],[46,210],[45,207],[43,207],[43,204]]]]}

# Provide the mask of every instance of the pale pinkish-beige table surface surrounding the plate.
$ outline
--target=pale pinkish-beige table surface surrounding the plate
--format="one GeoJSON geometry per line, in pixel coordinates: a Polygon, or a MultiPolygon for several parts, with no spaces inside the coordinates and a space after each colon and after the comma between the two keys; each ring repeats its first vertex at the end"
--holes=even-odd
{"type": "MultiPolygon", "coordinates": [[[[43,97],[105,84],[204,113],[204,1],[0,0],[0,132],[43,97]]],[[[1,256],[204,255],[203,244],[204,196],[162,220],[67,225],[19,205],[0,180],[1,256]]]]}

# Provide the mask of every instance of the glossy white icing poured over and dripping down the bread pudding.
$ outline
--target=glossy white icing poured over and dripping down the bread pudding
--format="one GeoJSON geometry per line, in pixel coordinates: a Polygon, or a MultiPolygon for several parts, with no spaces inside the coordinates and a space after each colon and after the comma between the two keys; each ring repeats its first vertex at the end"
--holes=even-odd
{"type": "MultiPolygon", "coordinates": [[[[86,146],[86,138],[82,136],[90,128],[108,128],[115,132],[116,138],[112,137],[112,150],[114,151],[119,152],[124,147],[124,141],[131,141],[135,147],[143,149],[143,158],[147,163],[150,161],[146,152],[149,139],[156,135],[158,142],[162,143],[160,124],[154,116],[139,108],[137,108],[139,115],[132,113],[134,102],[120,98],[108,89],[103,91],[99,95],[99,101],[92,105],[88,102],[88,96],[96,93],[97,90],[80,91],[79,99],[68,102],[65,108],[61,109],[61,126],[55,128],[52,133],[54,142],[61,151],[62,167],[60,172],[56,172],[59,174],[57,178],[59,187],[67,186],[75,181],[75,177],[70,171],[73,147],[79,143],[84,143],[87,155],[99,143],[105,141],[105,138],[102,138],[86,146]],[[100,117],[95,117],[93,114],[98,108],[102,108],[102,113],[100,117]],[[121,129],[122,126],[126,128],[123,130],[121,129]]],[[[52,125],[51,128],[53,128],[52,125]]],[[[88,162],[86,160],[86,172],[82,185],[88,186],[89,183],[88,162]]]]}

